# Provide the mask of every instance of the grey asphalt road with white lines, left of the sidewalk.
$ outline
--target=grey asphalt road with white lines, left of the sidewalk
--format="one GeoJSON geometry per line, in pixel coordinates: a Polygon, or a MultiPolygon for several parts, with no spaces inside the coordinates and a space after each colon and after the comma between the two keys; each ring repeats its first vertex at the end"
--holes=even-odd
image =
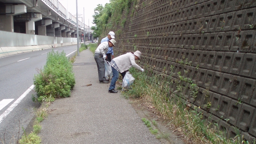
{"type": "Polygon", "coordinates": [[[77,53],[77,45],[16,54],[0,58],[0,143],[15,143],[34,117],[40,104],[32,101],[36,95],[33,78],[46,64],[52,50],[64,51],[69,57],[77,53]]]}

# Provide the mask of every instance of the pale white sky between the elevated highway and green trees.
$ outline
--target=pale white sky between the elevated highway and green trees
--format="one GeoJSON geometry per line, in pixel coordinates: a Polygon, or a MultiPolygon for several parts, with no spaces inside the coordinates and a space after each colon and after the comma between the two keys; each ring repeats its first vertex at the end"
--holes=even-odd
{"type": "MultiPolygon", "coordinates": [[[[94,14],[94,8],[97,7],[98,4],[102,4],[105,6],[106,3],[109,3],[109,0],[77,0],[78,1],[78,17],[82,17],[85,19],[84,24],[88,26],[94,26],[92,24],[92,15],[94,14]],[[82,15],[80,15],[82,14],[82,15]],[[88,22],[89,21],[89,22],[88,22]]],[[[68,8],[68,12],[70,12],[73,16],[76,15],[76,0],[59,0],[59,2],[65,7],[68,8]]],[[[82,22],[82,18],[78,18],[82,22]]]]}

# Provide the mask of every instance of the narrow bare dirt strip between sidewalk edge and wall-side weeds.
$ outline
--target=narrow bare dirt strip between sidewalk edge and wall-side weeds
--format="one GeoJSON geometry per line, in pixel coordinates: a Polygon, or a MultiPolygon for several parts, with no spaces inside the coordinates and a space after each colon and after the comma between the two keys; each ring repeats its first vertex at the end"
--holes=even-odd
{"type": "Polygon", "coordinates": [[[158,138],[161,143],[188,144],[185,140],[185,136],[176,128],[168,126],[168,122],[161,118],[160,114],[154,110],[154,106],[146,103],[143,99],[129,98],[128,100],[141,118],[146,118],[151,122],[153,129],[158,129],[156,138],[158,138]],[[156,121],[156,125],[153,125],[153,121],[156,121]]]}

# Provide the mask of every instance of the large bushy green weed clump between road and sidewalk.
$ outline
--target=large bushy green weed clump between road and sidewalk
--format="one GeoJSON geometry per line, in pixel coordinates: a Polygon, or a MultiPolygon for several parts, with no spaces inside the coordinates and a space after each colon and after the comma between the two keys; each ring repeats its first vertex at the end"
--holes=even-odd
{"type": "Polygon", "coordinates": [[[75,78],[72,63],[65,55],[64,52],[48,53],[46,65],[34,76],[38,102],[70,96],[70,90],[75,86],[75,78]]]}

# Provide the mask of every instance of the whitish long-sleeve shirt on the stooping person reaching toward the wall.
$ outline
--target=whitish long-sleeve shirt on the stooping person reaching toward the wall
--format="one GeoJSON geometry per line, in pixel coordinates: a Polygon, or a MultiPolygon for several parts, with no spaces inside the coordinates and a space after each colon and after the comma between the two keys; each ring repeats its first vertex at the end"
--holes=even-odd
{"type": "Polygon", "coordinates": [[[138,70],[142,70],[142,68],[136,64],[134,54],[131,52],[118,56],[113,60],[116,62],[120,73],[129,70],[132,66],[138,70]]]}

